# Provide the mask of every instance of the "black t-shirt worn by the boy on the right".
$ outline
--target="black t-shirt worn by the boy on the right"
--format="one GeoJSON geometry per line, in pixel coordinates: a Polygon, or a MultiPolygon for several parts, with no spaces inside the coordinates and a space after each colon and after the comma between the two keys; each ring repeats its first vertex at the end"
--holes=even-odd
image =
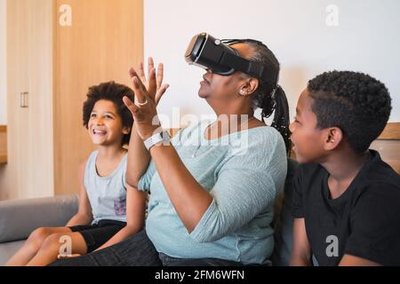
{"type": "Polygon", "coordinates": [[[348,189],[331,198],[329,173],[302,164],[293,180],[295,218],[305,218],[308,241],[319,265],[338,265],[358,256],[400,265],[400,176],[370,150],[348,189]]]}

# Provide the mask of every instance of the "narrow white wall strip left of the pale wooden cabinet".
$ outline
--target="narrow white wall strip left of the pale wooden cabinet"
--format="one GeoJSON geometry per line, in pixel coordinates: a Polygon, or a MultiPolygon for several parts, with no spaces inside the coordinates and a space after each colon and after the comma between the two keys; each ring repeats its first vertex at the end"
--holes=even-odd
{"type": "Polygon", "coordinates": [[[5,78],[5,0],[0,0],[0,125],[7,124],[5,78]]]}

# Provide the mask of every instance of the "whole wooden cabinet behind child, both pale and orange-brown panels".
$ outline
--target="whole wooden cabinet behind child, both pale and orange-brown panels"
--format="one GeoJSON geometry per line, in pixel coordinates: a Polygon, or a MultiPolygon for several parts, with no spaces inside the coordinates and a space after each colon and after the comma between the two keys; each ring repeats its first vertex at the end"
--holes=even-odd
{"type": "Polygon", "coordinates": [[[127,70],[142,59],[142,0],[8,0],[0,199],[78,192],[78,165],[93,150],[82,122],[86,92],[110,80],[129,85],[127,70]]]}

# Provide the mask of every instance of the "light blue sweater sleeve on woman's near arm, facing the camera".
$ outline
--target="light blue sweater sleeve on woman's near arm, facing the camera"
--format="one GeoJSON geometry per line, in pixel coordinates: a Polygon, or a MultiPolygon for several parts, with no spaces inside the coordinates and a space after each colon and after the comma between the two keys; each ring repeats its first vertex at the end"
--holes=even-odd
{"type": "Polygon", "coordinates": [[[281,136],[266,132],[249,138],[245,154],[233,154],[220,168],[213,201],[190,233],[193,241],[218,241],[272,206],[284,185],[287,160],[281,136]]]}

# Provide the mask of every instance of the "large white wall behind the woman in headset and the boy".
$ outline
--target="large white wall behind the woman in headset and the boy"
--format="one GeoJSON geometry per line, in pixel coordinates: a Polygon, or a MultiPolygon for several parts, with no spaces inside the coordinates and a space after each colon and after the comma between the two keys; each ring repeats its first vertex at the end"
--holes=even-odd
{"type": "MultiPolygon", "coordinates": [[[[386,83],[393,98],[391,122],[400,122],[400,1],[398,0],[145,0],[145,57],[165,65],[171,87],[159,112],[212,114],[197,97],[204,71],[183,55],[192,36],[255,38],[280,60],[280,84],[291,116],[309,79],[324,71],[362,71],[386,83]],[[339,8],[339,25],[329,27],[329,4],[339,8]]],[[[172,119],[173,120],[173,119],[172,119]]],[[[164,120],[165,121],[165,120],[164,120]]],[[[172,127],[179,124],[173,121],[172,127]]],[[[168,125],[164,125],[168,127],[168,125]]],[[[170,126],[170,127],[171,127],[170,126]]]]}

